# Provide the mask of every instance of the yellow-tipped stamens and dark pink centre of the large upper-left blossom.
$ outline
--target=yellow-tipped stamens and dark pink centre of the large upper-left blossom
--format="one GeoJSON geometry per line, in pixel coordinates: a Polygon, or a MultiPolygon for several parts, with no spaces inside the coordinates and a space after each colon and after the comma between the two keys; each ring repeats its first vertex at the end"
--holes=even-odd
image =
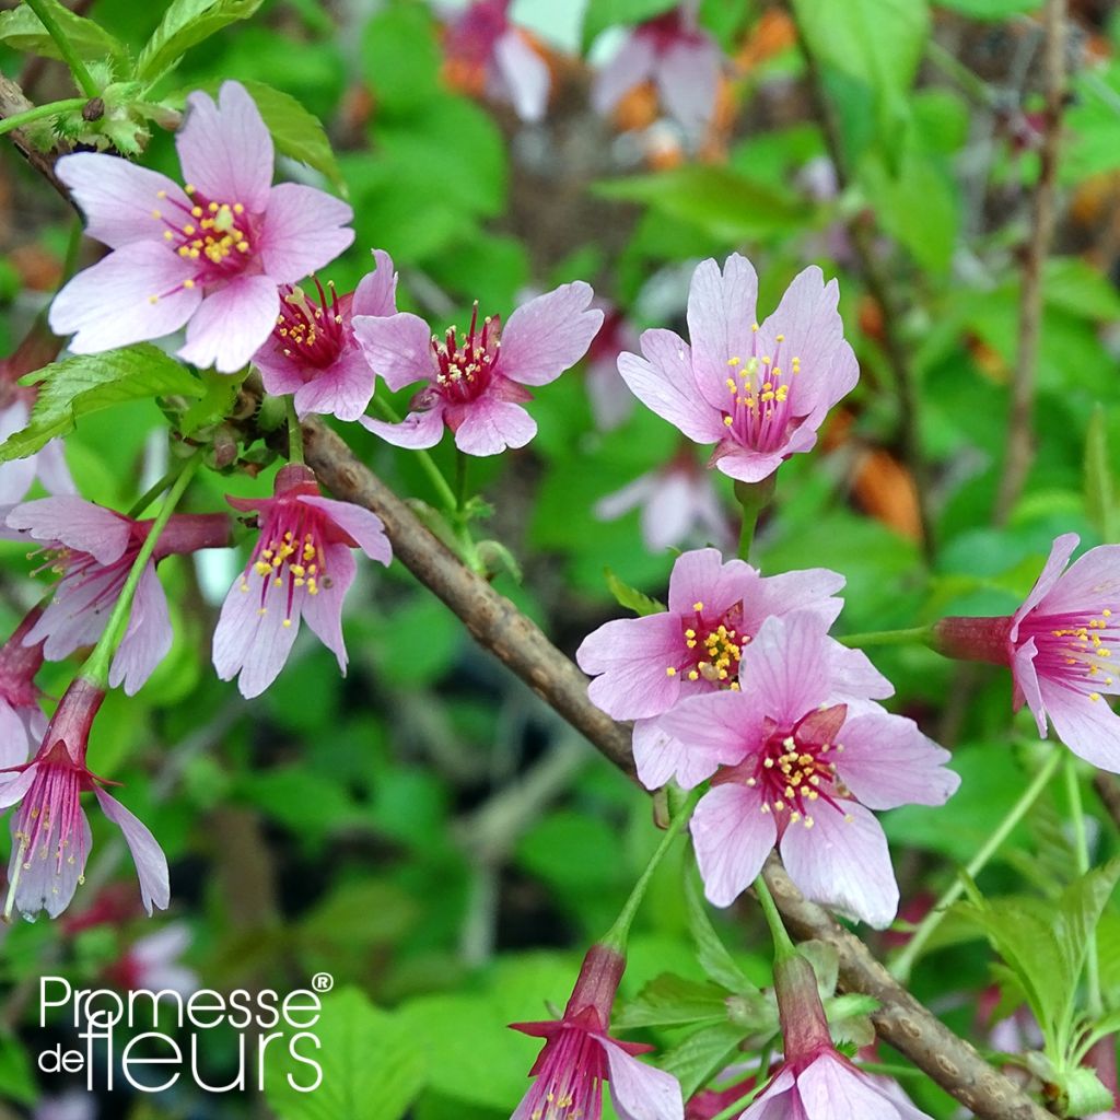
{"type": "Polygon", "coordinates": [[[195,274],[171,291],[149,296],[149,302],[170,296],[179,288],[213,284],[236,276],[249,260],[255,234],[245,207],[241,203],[207,198],[197,187],[183,188],[190,196],[190,206],[169,198],[158,190],[158,205],[151,216],[162,222],[164,240],[186,261],[195,265],[195,274]]]}

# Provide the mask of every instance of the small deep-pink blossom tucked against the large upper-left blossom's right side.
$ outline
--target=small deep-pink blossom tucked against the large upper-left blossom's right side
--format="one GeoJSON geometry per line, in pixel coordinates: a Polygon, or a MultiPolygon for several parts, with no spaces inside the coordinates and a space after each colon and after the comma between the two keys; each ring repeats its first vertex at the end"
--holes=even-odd
{"type": "Polygon", "coordinates": [[[357,288],[329,295],[318,280],[318,300],[302,288],[280,289],[280,315],[269,340],[253,355],[265,391],[295,394],[296,412],[326,413],[339,420],[356,420],[373,396],[373,371],[354,337],[355,315],[396,312],[396,273],[389,253],[374,252],[376,265],[357,288]]]}

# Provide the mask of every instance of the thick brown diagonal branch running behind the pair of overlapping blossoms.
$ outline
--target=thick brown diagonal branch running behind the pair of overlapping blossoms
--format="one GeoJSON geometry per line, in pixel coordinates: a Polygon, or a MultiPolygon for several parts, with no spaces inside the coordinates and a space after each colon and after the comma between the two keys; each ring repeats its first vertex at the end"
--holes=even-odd
{"type": "MultiPolygon", "coordinates": [[[[489,584],[466,569],[381,479],[354,458],[346,444],[318,420],[302,424],[308,465],[336,497],[372,510],[385,523],[393,552],[464,622],[475,641],[513,670],[610,762],[633,775],[631,731],[587,696],[587,679],[530,619],[489,584]]],[[[876,1028],[939,1085],[986,1120],[1047,1120],[1049,1113],[993,1070],[967,1042],[927,1011],[820,906],[806,902],[774,857],[766,878],[791,928],[802,939],[827,941],[840,953],[850,991],[880,1004],[876,1028]]]]}

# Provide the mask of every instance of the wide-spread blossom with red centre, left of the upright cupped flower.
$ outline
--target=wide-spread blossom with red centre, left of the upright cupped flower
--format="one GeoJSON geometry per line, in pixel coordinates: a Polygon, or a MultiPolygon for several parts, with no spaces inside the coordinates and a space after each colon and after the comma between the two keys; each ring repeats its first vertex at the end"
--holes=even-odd
{"type": "Polygon", "coordinates": [[[428,382],[401,423],[368,417],[362,423],[396,447],[435,447],[445,427],[467,455],[524,447],[536,435],[521,407],[532,400],[525,386],[556,381],[587,353],[603,323],[592,295],[580,280],[561,284],[519,307],[504,330],[496,316],[479,326],[475,305],[470,329],[460,336],[450,327],[445,342],[416,315],[356,315],[354,334],[391,390],[428,382]]]}

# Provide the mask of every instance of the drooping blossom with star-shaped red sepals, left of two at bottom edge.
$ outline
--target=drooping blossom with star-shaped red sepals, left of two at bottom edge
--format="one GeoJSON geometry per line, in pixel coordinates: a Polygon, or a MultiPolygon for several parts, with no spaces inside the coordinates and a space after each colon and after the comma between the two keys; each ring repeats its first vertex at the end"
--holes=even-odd
{"type": "Polygon", "coordinates": [[[513,1023],[514,1030],[545,1039],[529,1075],[536,1077],[513,1113],[513,1120],[560,1120],[603,1116],[603,1083],[622,1120],[683,1120],[681,1086],[671,1074],[638,1062],[634,1055],[653,1049],[624,1043],[607,1034],[610,1008],[626,961],[606,945],[592,945],[563,1018],[547,1023],[513,1023]]]}

